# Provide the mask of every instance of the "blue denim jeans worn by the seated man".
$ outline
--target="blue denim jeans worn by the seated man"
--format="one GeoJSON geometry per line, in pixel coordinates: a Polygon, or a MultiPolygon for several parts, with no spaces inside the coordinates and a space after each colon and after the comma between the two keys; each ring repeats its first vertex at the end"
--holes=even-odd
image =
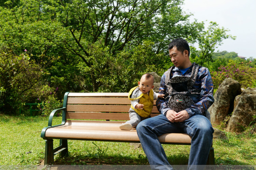
{"type": "Polygon", "coordinates": [[[214,130],[205,116],[194,115],[184,122],[172,123],[161,114],[141,121],[136,130],[150,165],[168,165],[166,169],[171,169],[165,151],[157,138],[166,133],[186,133],[192,137],[188,165],[207,163],[214,130]]]}

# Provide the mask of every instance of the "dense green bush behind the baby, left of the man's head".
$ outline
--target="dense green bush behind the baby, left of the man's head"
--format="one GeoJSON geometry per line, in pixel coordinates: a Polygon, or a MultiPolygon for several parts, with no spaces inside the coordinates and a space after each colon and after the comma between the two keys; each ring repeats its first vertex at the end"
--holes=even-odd
{"type": "Polygon", "coordinates": [[[118,53],[117,57],[113,58],[109,74],[98,79],[102,82],[99,91],[128,92],[138,84],[142,74],[165,71],[164,65],[167,63],[162,61],[166,56],[155,54],[152,47],[151,41],[144,41],[133,50],[118,53]]]}

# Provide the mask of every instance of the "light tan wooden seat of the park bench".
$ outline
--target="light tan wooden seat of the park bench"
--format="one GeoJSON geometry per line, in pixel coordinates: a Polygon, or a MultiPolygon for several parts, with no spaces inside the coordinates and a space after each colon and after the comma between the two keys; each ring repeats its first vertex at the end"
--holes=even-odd
{"type": "MultiPolygon", "coordinates": [[[[139,142],[136,129],[122,131],[119,125],[122,122],[105,121],[67,121],[65,125],[46,130],[45,137],[59,139],[83,139],[99,141],[121,141],[139,142]],[[87,124],[88,123],[88,124],[87,124]]],[[[172,143],[180,145],[190,145],[191,138],[187,134],[169,133],[158,137],[161,143],[172,143]]]]}

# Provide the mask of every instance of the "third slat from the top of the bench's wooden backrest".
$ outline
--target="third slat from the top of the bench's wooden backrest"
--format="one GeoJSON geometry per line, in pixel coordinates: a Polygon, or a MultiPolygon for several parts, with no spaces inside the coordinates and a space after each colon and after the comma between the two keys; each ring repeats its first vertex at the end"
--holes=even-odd
{"type": "MultiPolygon", "coordinates": [[[[128,112],[130,105],[67,105],[68,112],[128,112]]],[[[153,107],[152,113],[158,113],[153,107]]]]}

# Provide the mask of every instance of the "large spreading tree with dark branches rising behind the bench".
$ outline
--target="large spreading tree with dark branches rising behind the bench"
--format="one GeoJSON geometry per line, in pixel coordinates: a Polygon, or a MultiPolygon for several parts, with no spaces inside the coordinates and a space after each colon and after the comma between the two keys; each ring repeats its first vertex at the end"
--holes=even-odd
{"type": "Polygon", "coordinates": [[[193,40],[202,24],[188,21],[190,15],[182,12],[182,3],[182,0],[20,0],[11,9],[1,8],[0,43],[17,53],[27,48],[33,56],[68,56],[71,62],[77,62],[78,57],[84,63],[84,79],[90,77],[93,91],[98,91],[102,78],[110,74],[118,53],[123,50],[131,52],[131,57],[133,49],[150,40],[157,55],[167,51],[166,45],[172,38],[193,40]]]}

